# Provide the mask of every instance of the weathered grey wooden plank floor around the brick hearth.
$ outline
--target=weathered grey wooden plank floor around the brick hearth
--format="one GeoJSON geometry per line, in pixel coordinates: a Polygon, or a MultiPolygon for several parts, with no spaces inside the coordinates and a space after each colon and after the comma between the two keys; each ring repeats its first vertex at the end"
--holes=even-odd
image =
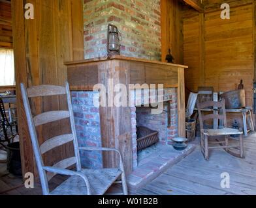
{"type": "MultiPolygon", "coordinates": [[[[249,135],[244,140],[245,159],[238,159],[222,149],[215,149],[210,151],[210,160],[205,161],[197,148],[152,183],[131,194],[256,194],[256,134],[249,135]],[[223,172],[230,175],[230,188],[221,188],[223,172]]],[[[55,177],[50,187],[56,187],[64,179],[61,176],[55,177]]],[[[39,183],[33,189],[24,188],[22,184],[22,179],[8,174],[5,165],[0,164],[0,194],[42,194],[39,183]]]]}

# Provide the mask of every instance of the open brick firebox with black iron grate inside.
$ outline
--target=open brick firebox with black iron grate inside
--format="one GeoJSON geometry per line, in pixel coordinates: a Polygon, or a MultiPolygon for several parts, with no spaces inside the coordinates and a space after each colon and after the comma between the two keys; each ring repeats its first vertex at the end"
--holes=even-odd
{"type": "MultiPolygon", "coordinates": [[[[144,95],[139,98],[141,105],[131,107],[133,170],[144,164],[150,155],[159,154],[163,146],[171,144],[172,138],[178,136],[176,88],[165,88],[163,94],[163,103],[159,103],[162,110],[157,114],[151,104],[143,103],[144,95]]],[[[152,96],[150,94],[149,100],[157,100],[152,96]]]]}

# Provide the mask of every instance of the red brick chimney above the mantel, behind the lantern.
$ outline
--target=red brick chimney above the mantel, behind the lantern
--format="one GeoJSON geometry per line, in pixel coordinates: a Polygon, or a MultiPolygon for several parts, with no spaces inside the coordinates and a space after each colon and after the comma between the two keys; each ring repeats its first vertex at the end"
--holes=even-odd
{"type": "Polygon", "coordinates": [[[85,58],[106,56],[108,23],[118,26],[121,55],[161,60],[160,0],[84,0],[85,58]]]}

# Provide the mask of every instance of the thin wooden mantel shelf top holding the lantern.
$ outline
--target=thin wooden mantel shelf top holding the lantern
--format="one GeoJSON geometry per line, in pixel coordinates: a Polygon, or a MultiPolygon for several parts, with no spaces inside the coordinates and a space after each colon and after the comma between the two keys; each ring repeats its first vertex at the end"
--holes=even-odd
{"type": "Polygon", "coordinates": [[[138,59],[134,57],[123,57],[121,55],[114,55],[112,57],[99,57],[95,59],[85,59],[85,60],[76,60],[76,61],[70,61],[70,62],[65,62],[65,65],[67,66],[72,66],[76,64],[85,64],[85,63],[91,63],[91,62],[102,62],[106,60],[133,60],[136,62],[144,62],[144,63],[151,63],[151,64],[161,64],[161,65],[167,65],[167,66],[176,66],[180,68],[187,69],[188,66],[180,65],[180,64],[171,64],[167,62],[160,62],[156,60],[148,60],[148,59],[138,59]]]}

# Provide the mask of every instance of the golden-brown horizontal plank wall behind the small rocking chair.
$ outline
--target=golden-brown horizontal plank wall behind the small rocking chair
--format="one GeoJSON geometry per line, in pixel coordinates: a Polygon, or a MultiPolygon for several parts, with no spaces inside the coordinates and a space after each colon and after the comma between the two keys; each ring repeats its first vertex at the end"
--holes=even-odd
{"type": "Polygon", "coordinates": [[[253,105],[254,1],[208,1],[205,14],[184,10],[184,64],[186,87],[215,91],[235,90],[244,81],[246,103],[253,105]],[[221,19],[221,3],[231,6],[231,19],[221,19]]]}

